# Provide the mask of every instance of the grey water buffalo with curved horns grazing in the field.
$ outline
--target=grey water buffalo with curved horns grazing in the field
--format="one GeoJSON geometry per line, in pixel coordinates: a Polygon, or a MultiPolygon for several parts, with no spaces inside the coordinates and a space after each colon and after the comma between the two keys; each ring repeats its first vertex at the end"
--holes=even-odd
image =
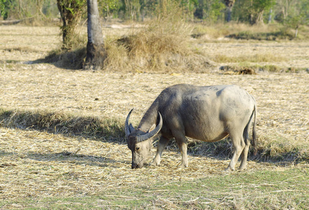
{"type": "Polygon", "coordinates": [[[132,169],[141,168],[150,154],[152,141],[161,133],[157,154],[152,165],[159,165],[161,154],[168,141],[175,138],[182,162],[187,167],[187,137],[213,142],[231,138],[234,152],[227,170],[234,170],[241,154],[240,170],[247,165],[252,129],[252,145],[255,145],[255,121],[257,109],[254,98],[237,85],[173,85],[159,94],[141,123],[135,129],[129,118],[125,122],[127,144],[132,152],[132,169]]]}

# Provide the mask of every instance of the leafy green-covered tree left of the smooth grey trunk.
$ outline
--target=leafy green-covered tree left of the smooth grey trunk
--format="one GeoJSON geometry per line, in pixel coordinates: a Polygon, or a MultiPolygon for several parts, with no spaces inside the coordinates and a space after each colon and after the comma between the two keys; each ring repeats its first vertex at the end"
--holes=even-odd
{"type": "Polygon", "coordinates": [[[75,29],[85,11],[85,0],[57,0],[57,6],[62,18],[62,48],[73,48],[75,29]]]}

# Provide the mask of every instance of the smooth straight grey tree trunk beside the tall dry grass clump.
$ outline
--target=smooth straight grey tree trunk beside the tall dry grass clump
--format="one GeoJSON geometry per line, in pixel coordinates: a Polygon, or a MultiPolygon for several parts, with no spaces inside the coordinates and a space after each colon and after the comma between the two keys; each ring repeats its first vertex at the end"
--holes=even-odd
{"type": "Polygon", "coordinates": [[[87,0],[88,13],[88,43],[87,57],[83,69],[98,70],[103,67],[106,52],[104,49],[103,34],[99,18],[98,1],[87,0]]]}

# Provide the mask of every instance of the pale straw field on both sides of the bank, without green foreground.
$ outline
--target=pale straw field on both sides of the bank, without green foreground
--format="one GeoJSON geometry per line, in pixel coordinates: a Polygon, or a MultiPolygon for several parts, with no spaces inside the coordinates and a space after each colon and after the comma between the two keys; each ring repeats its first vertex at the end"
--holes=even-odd
{"type": "MultiPolygon", "coordinates": [[[[112,29],[106,29],[105,33],[107,30],[112,29]]],[[[52,64],[33,64],[57,48],[60,41],[57,27],[0,26],[0,108],[110,116],[123,121],[134,108],[131,120],[137,125],[164,87],[176,83],[237,84],[257,100],[258,134],[264,137],[275,134],[288,140],[282,144],[303,145],[303,152],[308,153],[309,74],[306,71],[257,75],[161,74],[73,71],[52,64]]],[[[309,42],[214,41],[199,45],[208,54],[282,55],[288,59],[275,64],[309,68],[309,42]]],[[[155,153],[155,148],[152,151],[155,153]]],[[[164,153],[160,167],[132,171],[131,151],[125,144],[8,127],[0,127],[0,156],[1,199],[92,195],[125,187],[134,183],[136,176],[141,181],[194,180],[222,174],[229,164],[229,160],[207,155],[189,155],[189,167],[180,172],[176,169],[180,154],[169,151],[164,153]],[[162,173],[165,176],[160,176],[162,173]]],[[[247,171],[290,167],[295,166],[249,161],[247,171]]]]}

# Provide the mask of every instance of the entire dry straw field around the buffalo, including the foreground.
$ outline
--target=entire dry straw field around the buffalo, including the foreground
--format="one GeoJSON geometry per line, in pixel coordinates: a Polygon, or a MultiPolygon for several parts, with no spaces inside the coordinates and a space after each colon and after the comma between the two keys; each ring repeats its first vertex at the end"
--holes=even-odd
{"type": "MultiPolygon", "coordinates": [[[[104,31],[108,34],[115,30],[104,31]]],[[[298,183],[309,181],[309,74],[306,71],[231,75],[220,73],[217,69],[222,64],[217,64],[209,73],[128,73],[73,71],[52,64],[34,64],[36,59],[57,48],[61,41],[58,35],[57,27],[0,26],[0,111],[61,113],[80,118],[111,118],[124,123],[129,110],[135,108],[131,120],[137,125],[148,106],[168,85],[237,84],[257,100],[260,146],[268,146],[268,153],[279,156],[278,147],[282,147],[282,153],[291,148],[301,159],[297,164],[250,160],[245,172],[225,174],[223,169],[229,160],[214,158],[206,151],[189,155],[189,167],[179,170],[180,154],[171,149],[164,153],[160,167],[132,170],[131,151],[124,144],[123,134],[120,139],[98,139],[59,133],[56,127],[55,132],[16,125],[7,127],[8,119],[0,121],[0,209],[40,209],[55,203],[55,208],[66,209],[85,197],[96,199],[92,207],[82,206],[80,202],[80,209],[127,209],[131,205],[137,205],[138,209],[260,209],[257,206],[260,200],[268,204],[265,207],[282,209],[288,193],[297,199],[289,201],[287,209],[309,207],[308,182],[305,188],[297,188],[298,183]],[[281,181],[260,180],[255,175],[294,169],[299,174],[281,181]],[[192,190],[180,190],[175,197],[166,195],[173,190],[165,186],[194,185],[201,179],[229,176],[231,179],[252,176],[254,181],[236,181],[231,188],[227,184],[221,198],[207,186],[201,191],[207,194],[204,197],[194,197],[190,194],[192,190]],[[290,180],[297,180],[294,186],[298,190],[293,190],[293,186],[280,188],[290,180]],[[141,195],[132,192],[132,186],[142,189],[141,195]],[[265,186],[271,190],[260,190],[265,186]],[[64,197],[76,200],[64,200],[64,197]],[[248,204],[246,200],[250,198],[254,204],[248,204]]],[[[196,46],[206,55],[280,56],[285,59],[267,64],[309,69],[309,41],[224,40],[196,43],[196,46]]],[[[155,153],[155,148],[152,151],[155,153]]]]}

